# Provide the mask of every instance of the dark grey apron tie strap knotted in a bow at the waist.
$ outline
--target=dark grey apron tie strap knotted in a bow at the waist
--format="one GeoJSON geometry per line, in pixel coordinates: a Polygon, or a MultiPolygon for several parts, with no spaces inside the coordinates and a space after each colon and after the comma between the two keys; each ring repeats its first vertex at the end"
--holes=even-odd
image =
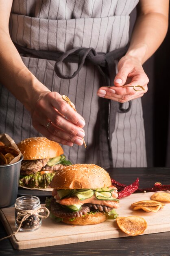
{"type": "MultiPolygon", "coordinates": [[[[102,79],[104,81],[105,86],[113,86],[113,80],[115,76],[115,60],[119,59],[120,57],[124,56],[126,53],[129,44],[125,47],[120,49],[113,50],[108,53],[104,52],[96,52],[96,50],[92,47],[85,48],[85,47],[77,47],[71,49],[67,52],[57,52],[57,51],[42,51],[42,50],[35,50],[29,49],[14,43],[15,47],[17,48],[18,52],[21,54],[33,54],[35,57],[45,58],[49,60],[56,61],[54,65],[54,70],[62,79],[72,79],[75,77],[78,72],[83,67],[85,61],[89,61],[93,65],[98,68],[98,71],[102,75],[102,79]],[[77,70],[71,75],[64,75],[62,74],[60,65],[63,62],[68,63],[78,63],[77,70]]],[[[127,109],[122,108],[122,104],[120,103],[119,112],[125,113],[129,112],[131,109],[131,101],[129,101],[129,107],[127,109]]]]}

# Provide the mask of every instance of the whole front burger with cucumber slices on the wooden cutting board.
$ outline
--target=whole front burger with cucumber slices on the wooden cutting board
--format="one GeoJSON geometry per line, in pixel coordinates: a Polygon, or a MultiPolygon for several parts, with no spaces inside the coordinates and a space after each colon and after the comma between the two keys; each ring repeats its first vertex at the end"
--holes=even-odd
{"type": "Polygon", "coordinates": [[[71,225],[94,225],[116,218],[119,200],[107,171],[95,164],[65,166],[54,175],[50,216],[71,225]]]}

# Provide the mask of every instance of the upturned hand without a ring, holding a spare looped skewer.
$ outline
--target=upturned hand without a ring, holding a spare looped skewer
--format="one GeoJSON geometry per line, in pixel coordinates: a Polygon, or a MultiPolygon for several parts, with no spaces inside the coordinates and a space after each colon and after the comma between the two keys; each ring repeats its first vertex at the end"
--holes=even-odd
{"type": "Polygon", "coordinates": [[[118,74],[115,76],[113,87],[100,87],[98,96],[124,103],[142,97],[148,91],[149,79],[137,58],[124,56],[118,62],[118,74]],[[124,86],[122,86],[124,85],[124,86]],[[140,85],[144,88],[135,87],[140,85]]]}

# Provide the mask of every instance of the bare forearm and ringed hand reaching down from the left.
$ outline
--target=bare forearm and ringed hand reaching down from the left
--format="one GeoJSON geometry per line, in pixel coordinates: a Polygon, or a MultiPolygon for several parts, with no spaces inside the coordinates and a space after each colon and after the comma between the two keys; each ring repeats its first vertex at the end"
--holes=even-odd
{"type": "Polygon", "coordinates": [[[31,112],[34,128],[63,145],[82,145],[85,121],[61,95],[50,92],[26,68],[9,36],[12,0],[0,0],[0,82],[31,112]],[[47,124],[50,123],[48,129],[47,124]]]}

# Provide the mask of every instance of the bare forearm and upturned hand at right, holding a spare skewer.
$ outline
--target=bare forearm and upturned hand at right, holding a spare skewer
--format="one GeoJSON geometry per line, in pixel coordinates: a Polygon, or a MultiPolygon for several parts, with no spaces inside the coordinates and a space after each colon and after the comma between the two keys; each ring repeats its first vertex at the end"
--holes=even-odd
{"type": "Polygon", "coordinates": [[[118,74],[114,80],[116,86],[99,88],[98,96],[123,103],[142,97],[147,92],[148,77],[142,64],[154,54],[166,36],[168,10],[169,0],[139,1],[129,49],[118,63],[118,74]],[[121,87],[122,85],[126,86],[121,87]],[[133,87],[127,87],[136,85],[142,86],[145,90],[136,92],[133,87]]]}

